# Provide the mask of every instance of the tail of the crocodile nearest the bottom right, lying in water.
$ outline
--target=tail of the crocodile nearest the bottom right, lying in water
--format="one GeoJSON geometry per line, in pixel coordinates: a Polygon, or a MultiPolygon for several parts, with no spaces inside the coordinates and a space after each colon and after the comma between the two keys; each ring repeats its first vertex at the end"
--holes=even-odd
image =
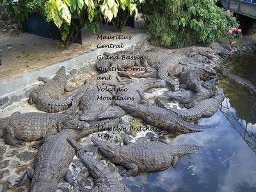
{"type": "Polygon", "coordinates": [[[200,148],[202,148],[202,146],[193,144],[170,145],[170,151],[172,152],[172,154],[177,154],[181,156],[186,156],[198,152],[200,148]]]}

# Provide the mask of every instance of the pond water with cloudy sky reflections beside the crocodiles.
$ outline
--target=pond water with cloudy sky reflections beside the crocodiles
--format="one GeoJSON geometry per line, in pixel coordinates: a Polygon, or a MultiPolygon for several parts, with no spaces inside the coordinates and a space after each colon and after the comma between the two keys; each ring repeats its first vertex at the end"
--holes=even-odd
{"type": "MultiPolygon", "coordinates": [[[[256,84],[252,58],[244,54],[226,67],[256,84]]],[[[177,168],[129,177],[124,184],[132,191],[256,191],[256,96],[227,79],[219,86],[226,96],[223,106],[199,124],[220,124],[173,140],[202,145],[200,152],[180,159],[177,168]]]]}

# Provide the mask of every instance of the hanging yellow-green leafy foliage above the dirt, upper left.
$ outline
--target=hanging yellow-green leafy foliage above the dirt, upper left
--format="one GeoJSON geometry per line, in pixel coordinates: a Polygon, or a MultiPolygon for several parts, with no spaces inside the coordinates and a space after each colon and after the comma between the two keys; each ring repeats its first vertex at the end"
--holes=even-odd
{"type": "MultiPolygon", "coordinates": [[[[63,41],[72,42],[83,27],[88,27],[94,32],[99,31],[99,22],[102,19],[110,22],[116,17],[121,18],[122,13],[136,13],[136,6],[142,0],[19,0],[18,3],[7,1],[10,12],[15,13],[17,19],[24,20],[29,12],[40,12],[60,29],[63,41]],[[19,7],[18,12],[14,8],[15,4],[19,7]]],[[[119,29],[123,25],[116,26],[119,29]]]]}

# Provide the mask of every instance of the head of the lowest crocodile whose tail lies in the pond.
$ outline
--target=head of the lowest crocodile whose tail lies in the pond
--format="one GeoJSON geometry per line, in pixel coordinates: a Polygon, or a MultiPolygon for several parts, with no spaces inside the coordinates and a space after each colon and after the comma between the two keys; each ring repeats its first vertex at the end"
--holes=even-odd
{"type": "Polygon", "coordinates": [[[113,143],[108,143],[106,141],[99,140],[97,138],[92,138],[92,142],[96,145],[100,152],[104,154],[104,156],[108,158],[116,157],[118,155],[118,146],[113,143]]]}

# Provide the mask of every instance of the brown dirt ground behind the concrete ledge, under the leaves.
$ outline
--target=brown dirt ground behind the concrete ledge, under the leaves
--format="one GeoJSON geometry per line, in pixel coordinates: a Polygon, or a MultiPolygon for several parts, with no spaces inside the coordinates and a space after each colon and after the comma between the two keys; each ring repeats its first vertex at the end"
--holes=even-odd
{"type": "MultiPolygon", "coordinates": [[[[125,27],[124,33],[116,33],[112,26],[100,26],[102,35],[133,35],[141,29],[125,27]]],[[[97,40],[97,34],[89,29],[82,30],[83,44],[61,47],[58,40],[43,38],[30,33],[0,35],[0,81],[8,81],[25,72],[42,68],[58,61],[68,60],[84,52],[96,49],[97,44],[110,44],[113,40],[97,40]]]]}

